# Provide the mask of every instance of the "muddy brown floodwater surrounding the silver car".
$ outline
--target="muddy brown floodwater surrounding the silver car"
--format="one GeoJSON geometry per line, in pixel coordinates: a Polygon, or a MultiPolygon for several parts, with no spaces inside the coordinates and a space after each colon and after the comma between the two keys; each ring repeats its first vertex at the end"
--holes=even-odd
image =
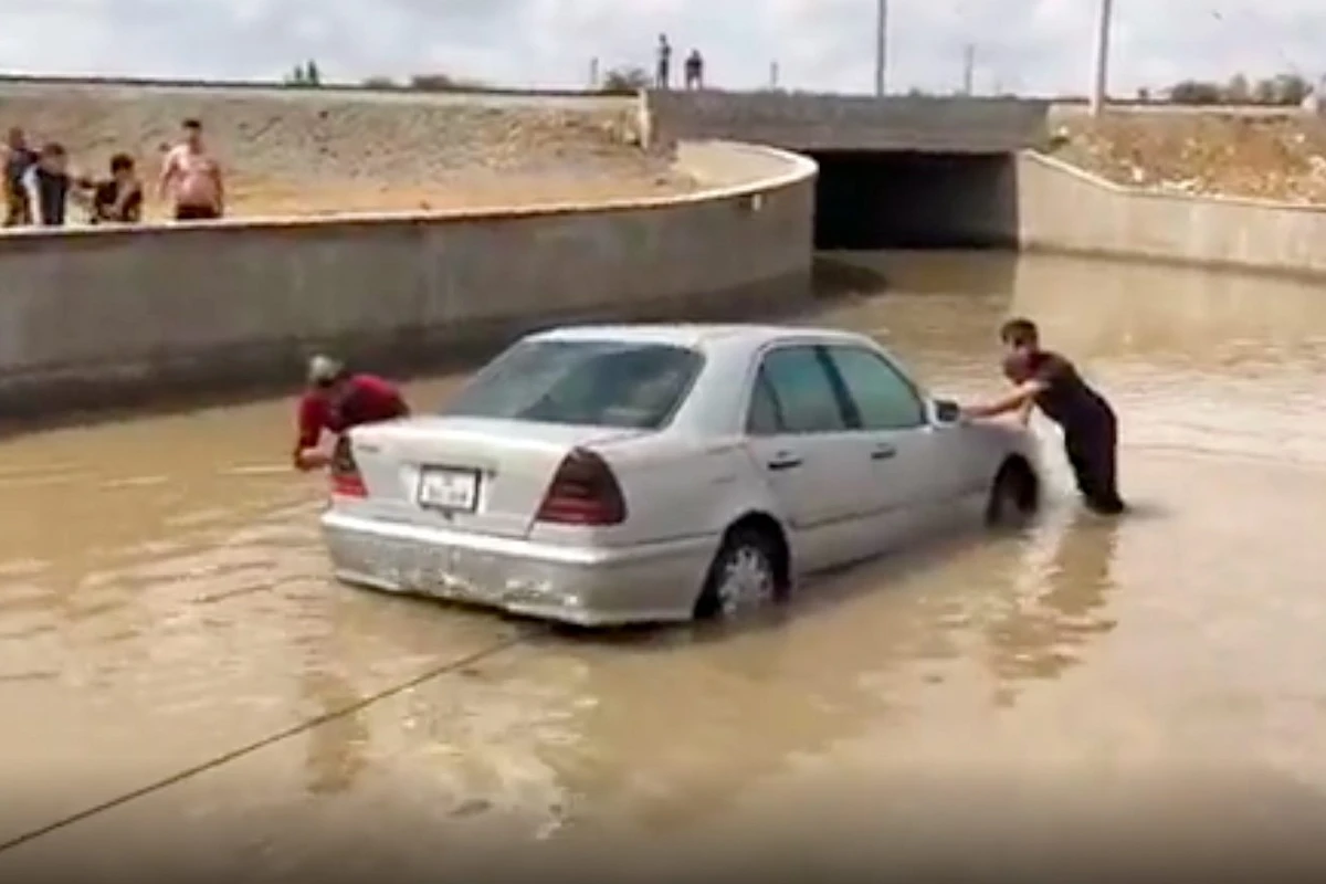
{"type": "Polygon", "coordinates": [[[1050,501],[1024,534],[936,538],[745,630],[587,639],[334,584],[289,400],[15,437],[0,877],[274,881],[334,855],[471,881],[587,857],[1078,880],[1326,851],[1326,289],[859,261],[887,290],[812,321],[936,394],[997,391],[998,322],[1038,319],[1114,400],[1135,512],[1079,512],[1038,423],[1050,501]]]}

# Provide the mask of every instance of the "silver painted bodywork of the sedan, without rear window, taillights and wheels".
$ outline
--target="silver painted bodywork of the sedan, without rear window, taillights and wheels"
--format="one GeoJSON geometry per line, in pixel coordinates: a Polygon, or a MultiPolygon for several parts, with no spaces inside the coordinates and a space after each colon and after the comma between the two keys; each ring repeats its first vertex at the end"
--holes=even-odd
{"type": "Polygon", "coordinates": [[[525,341],[659,343],[700,353],[703,367],[658,429],[465,416],[353,429],[366,496],[333,496],[322,516],[342,580],[582,626],[684,620],[725,531],[743,517],[772,517],[793,574],[802,575],[886,553],[939,521],[980,513],[1008,457],[1037,464],[1025,431],[936,420],[928,398],[906,392],[911,382],[900,366],[857,334],[639,325],[560,329],[525,341]],[[886,375],[875,384],[871,371],[891,370],[902,379],[894,404],[871,406],[883,423],[865,428],[862,407],[862,425],[752,431],[758,378],[776,368],[782,375],[772,386],[786,387],[782,399],[796,400],[805,420],[827,415],[815,399],[825,394],[812,387],[823,384],[818,371],[830,350],[843,370],[825,376],[847,379],[855,371],[862,398],[883,386],[886,375]],[[912,415],[912,408],[920,411],[912,415]],[[884,425],[890,414],[906,419],[884,425]],[[591,451],[611,468],[625,521],[595,527],[537,518],[573,449],[591,451]],[[430,472],[439,468],[436,476],[430,472]],[[460,505],[439,509],[422,502],[423,492],[460,505]]]}

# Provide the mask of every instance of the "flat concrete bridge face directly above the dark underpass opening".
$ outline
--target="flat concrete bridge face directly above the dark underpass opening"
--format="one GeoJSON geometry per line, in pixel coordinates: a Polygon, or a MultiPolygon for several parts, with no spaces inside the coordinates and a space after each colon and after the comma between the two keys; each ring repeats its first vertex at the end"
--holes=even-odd
{"type": "Polygon", "coordinates": [[[1040,144],[1049,102],[1017,98],[650,91],[656,142],[724,138],[790,150],[1002,154],[1040,144]]]}

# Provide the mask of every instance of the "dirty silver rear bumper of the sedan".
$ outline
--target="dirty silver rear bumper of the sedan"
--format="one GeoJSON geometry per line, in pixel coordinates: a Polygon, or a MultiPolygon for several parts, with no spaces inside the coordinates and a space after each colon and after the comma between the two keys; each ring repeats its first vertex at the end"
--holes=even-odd
{"type": "Polygon", "coordinates": [[[585,627],[691,616],[719,538],[582,549],[322,514],[346,583],[585,627]]]}

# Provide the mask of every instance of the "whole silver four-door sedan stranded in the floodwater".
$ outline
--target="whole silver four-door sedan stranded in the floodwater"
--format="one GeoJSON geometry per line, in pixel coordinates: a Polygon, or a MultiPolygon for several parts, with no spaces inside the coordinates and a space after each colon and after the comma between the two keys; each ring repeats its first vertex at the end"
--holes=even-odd
{"type": "Polygon", "coordinates": [[[350,431],[322,530],[346,583],[611,626],[733,616],[1038,498],[1026,431],[959,420],[867,337],[577,326],[350,431]]]}

